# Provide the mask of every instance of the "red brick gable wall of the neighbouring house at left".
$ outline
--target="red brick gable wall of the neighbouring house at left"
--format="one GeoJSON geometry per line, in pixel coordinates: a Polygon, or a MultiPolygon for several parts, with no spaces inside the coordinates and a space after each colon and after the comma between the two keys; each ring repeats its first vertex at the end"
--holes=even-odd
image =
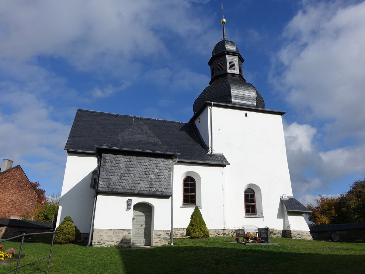
{"type": "Polygon", "coordinates": [[[18,165],[0,173],[0,218],[33,216],[37,194],[18,165]]]}

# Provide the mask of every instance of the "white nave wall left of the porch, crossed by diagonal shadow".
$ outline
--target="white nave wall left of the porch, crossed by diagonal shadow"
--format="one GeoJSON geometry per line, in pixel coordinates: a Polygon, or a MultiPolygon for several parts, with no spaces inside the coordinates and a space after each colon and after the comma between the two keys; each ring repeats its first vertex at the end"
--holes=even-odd
{"type": "Polygon", "coordinates": [[[66,216],[71,216],[81,233],[89,232],[95,192],[90,182],[96,169],[95,156],[68,154],[56,227],[66,216]]]}

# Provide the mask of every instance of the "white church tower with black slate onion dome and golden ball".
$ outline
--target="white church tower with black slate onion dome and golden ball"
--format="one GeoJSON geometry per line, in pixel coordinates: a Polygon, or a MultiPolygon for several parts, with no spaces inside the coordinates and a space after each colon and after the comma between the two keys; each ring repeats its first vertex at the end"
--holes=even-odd
{"type": "MultiPolygon", "coordinates": [[[[209,86],[193,105],[194,123],[208,154],[224,154],[230,163],[222,169],[225,223],[278,228],[290,237],[311,239],[302,216],[308,209],[293,198],[284,140],[284,111],[265,109],[256,88],[242,75],[243,58],[223,39],[208,65],[209,86]],[[239,210],[241,209],[241,210],[239,210]],[[239,216],[239,217],[238,217],[239,216]]],[[[283,233],[284,233],[283,232],[283,233]]]]}

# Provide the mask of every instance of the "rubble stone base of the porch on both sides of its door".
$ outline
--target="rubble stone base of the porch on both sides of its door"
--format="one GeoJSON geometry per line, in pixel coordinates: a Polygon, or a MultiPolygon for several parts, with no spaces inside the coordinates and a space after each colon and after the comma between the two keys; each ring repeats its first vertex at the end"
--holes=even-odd
{"type": "MultiPolygon", "coordinates": [[[[123,246],[131,245],[131,229],[94,229],[93,246],[123,246]]],[[[165,246],[170,243],[169,230],[154,230],[151,246],[165,246]]]]}

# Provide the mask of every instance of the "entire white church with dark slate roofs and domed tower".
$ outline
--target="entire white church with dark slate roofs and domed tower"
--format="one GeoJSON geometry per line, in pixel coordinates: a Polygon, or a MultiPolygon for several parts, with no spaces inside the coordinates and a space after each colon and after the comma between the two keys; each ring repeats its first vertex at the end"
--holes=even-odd
{"type": "Polygon", "coordinates": [[[186,237],[198,206],[210,236],[243,225],[312,239],[292,194],[283,111],[265,109],[224,34],[188,123],[77,110],[57,225],[71,216],[93,246],[159,246],[186,237]]]}

